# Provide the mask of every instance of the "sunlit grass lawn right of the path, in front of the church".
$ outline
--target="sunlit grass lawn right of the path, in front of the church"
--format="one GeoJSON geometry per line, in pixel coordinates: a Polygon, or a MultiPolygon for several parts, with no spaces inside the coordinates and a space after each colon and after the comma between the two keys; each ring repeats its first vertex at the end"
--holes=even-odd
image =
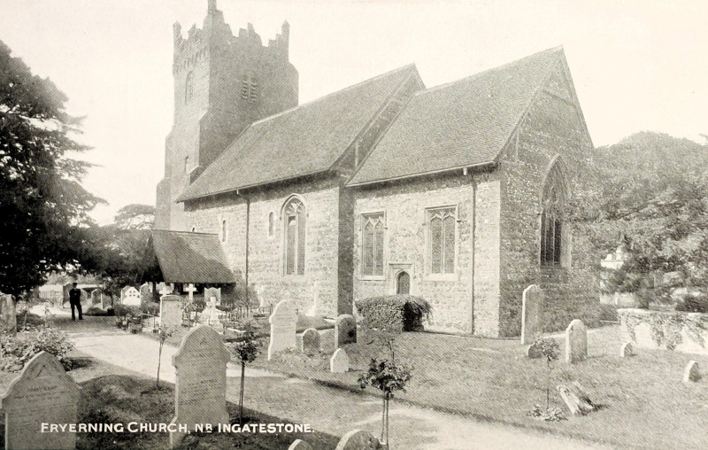
{"type": "MultiPolygon", "coordinates": [[[[561,350],[565,342],[559,338],[561,350]]],[[[472,415],[483,420],[562,433],[612,446],[704,448],[708,440],[708,358],[664,350],[638,350],[621,359],[619,326],[589,333],[589,359],[568,365],[556,361],[551,371],[550,407],[567,408],[555,386],[578,380],[599,410],[569,416],[558,423],[527,416],[535,404],[545,407],[546,364],[529,360],[518,341],[404,333],[396,339],[396,361],[413,368],[407,392],[397,399],[472,415]],[[683,369],[699,362],[704,378],[683,384],[683,369]]],[[[372,332],[359,330],[358,344],[345,345],[352,370],[329,373],[329,355],[307,357],[261,354],[253,366],[292,376],[359,389],[357,379],[374,356],[387,351],[372,332]]],[[[368,392],[378,391],[367,388],[368,392]]]]}

